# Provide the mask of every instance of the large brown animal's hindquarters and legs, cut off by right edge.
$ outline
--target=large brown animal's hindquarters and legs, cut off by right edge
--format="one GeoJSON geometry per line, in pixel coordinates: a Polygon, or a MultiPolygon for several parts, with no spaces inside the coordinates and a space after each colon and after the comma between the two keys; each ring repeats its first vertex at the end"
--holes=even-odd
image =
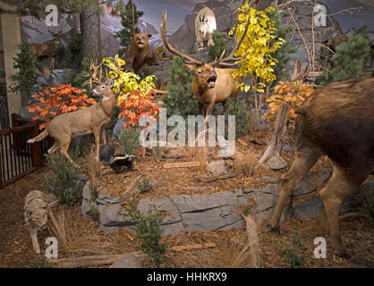
{"type": "Polygon", "coordinates": [[[294,186],[320,156],[327,155],[334,171],[320,197],[336,255],[349,257],[339,231],[339,206],[374,171],[374,78],[332,83],[315,91],[296,113],[296,157],[280,181],[268,225],[279,231],[279,218],[294,186]]]}

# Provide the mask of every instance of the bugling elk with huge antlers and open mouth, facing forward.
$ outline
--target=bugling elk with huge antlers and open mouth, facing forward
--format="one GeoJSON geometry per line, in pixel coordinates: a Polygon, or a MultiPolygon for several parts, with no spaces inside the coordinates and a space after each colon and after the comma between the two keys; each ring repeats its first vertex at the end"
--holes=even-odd
{"type": "Polygon", "coordinates": [[[184,55],[180,51],[176,50],[173,46],[167,43],[166,40],[166,12],[162,12],[162,21],[161,21],[161,37],[166,48],[174,55],[178,55],[183,59],[184,65],[194,72],[194,77],[192,80],[192,92],[193,95],[199,100],[200,113],[204,116],[208,116],[212,113],[215,103],[222,103],[225,108],[225,101],[228,97],[236,97],[238,95],[238,86],[242,82],[242,78],[236,77],[235,79],[232,76],[232,73],[235,71],[234,68],[224,69],[217,68],[218,65],[223,67],[234,67],[238,62],[247,56],[244,55],[240,58],[234,57],[234,53],[241,45],[243,38],[245,37],[250,21],[245,28],[244,33],[240,41],[235,40],[234,49],[230,55],[223,58],[225,55],[216,59],[212,63],[204,63],[203,61],[197,61],[189,55],[184,55]],[[234,63],[227,63],[234,61],[234,63]],[[207,112],[204,112],[204,105],[208,105],[207,112]]]}

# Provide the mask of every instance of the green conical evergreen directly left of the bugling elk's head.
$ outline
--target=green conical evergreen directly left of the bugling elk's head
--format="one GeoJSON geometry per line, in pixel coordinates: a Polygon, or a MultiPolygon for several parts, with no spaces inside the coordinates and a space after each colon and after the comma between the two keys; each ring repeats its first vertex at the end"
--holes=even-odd
{"type": "Polygon", "coordinates": [[[168,115],[199,114],[198,100],[192,94],[193,73],[179,56],[174,56],[167,94],[163,97],[168,115]]]}

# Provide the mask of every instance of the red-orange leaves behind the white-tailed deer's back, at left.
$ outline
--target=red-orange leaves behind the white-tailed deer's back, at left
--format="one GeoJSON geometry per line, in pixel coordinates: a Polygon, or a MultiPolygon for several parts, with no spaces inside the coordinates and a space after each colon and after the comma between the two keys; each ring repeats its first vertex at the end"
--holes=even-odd
{"type": "Polygon", "coordinates": [[[71,85],[60,85],[58,88],[47,87],[44,92],[34,95],[39,105],[30,105],[29,112],[37,112],[33,120],[41,120],[39,129],[47,127],[55,116],[67,114],[77,110],[84,109],[89,105],[95,105],[96,101],[85,94],[86,90],[74,88],[71,85]]]}

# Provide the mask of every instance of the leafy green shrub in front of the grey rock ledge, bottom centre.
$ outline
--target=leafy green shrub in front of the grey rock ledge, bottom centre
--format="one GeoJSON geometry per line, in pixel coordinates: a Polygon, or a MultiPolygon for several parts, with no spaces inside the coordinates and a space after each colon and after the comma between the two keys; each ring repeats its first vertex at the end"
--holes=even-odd
{"type": "Polygon", "coordinates": [[[137,208],[137,201],[125,208],[127,214],[134,223],[131,228],[136,231],[137,241],[140,241],[141,250],[149,257],[152,267],[158,267],[163,261],[166,252],[166,243],[161,243],[161,236],[164,230],[161,223],[164,216],[159,213],[152,213],[149,209],[147,214],[140,214],[137,208]]]}

